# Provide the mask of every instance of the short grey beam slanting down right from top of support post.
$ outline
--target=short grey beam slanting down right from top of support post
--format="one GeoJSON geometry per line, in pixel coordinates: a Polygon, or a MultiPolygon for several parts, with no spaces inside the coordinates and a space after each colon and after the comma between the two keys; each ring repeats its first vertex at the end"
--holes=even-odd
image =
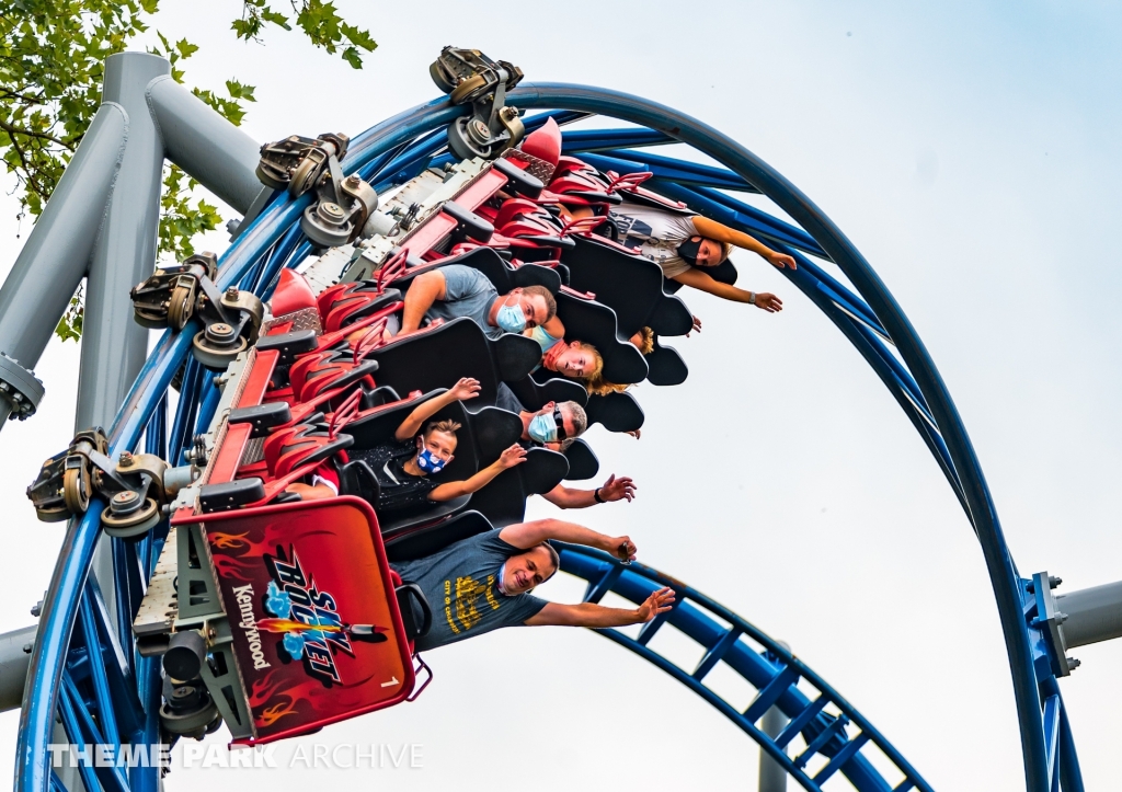
{"type": "Polygon", "coordinates": [[[169,76],[153,81],[148,101],[167,158],[245,214],[264,188],[260,146],[169,76]]]}

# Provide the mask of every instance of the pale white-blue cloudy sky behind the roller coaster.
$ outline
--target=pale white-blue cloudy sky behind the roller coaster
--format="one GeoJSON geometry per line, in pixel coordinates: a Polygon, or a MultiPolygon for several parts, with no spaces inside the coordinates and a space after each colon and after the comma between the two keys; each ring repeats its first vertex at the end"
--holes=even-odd
{"type": "MultiPolygon", "coordinates": [[[[907,311],[971,432],[1021,572],[1047,569],[1069,590],[1120,577],[1116,6],[649,0],[565,15],[555,3],[340,2],[380,45],[361,72],[296,35],[234,43],[232,0],[164,6],[156,27],[201,45],[190,82],[258,86],[245,128],[260,141],[353,135],[431,99],[426,67],[445,44],[513,61],[530,81],[647,96],[729,133],[815,200],[907,311]]],[[[15,201],[0,203],[6,271],[22,240],[15,201]]],[[[936,789],[1023,789],[993,595],[949,487],[842,334],[762,261],[736,260],[743,285],[779,293],[787,308],[767,316],[689,295],[705,321],[673,342],[689,380],[638,389],[638,443],[589,434],[605,476],[633,476],[638,499],[568,516],[628,533],[643,561],[788,641],[936,789]]],[[[30,623],[62,541],[22,492],[72,434],[76,346],[53,342],[37,371],[39,415],[0,436],[3,629],[30,623]]],[[[546,595],[579,591],[559,581],[546,595]]],[[[1063,690],[1084,777],[1109,789],[1122,646],[1075,654],[1083,666],[1063,690]]],[[[420,744],[423,768],[331,771],[331,782],[755,789],[747,737],[591,633],[503,630],[427,660],[436,679],[416,703],[309,738],[420,744]]],[[[17,722],[0,716],[10,746],[0,773],[17,722]]],[[[167,782],[251,792],[309,780],[181,768],[167,782]]]]}

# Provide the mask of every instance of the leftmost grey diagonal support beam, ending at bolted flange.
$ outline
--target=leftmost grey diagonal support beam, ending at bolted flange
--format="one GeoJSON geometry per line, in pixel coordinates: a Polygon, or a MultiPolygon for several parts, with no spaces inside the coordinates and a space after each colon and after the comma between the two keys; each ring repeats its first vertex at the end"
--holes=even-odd
{"type": "MultiPolygon", "coordinates": [[[[0,352],[28,376],[85,276],[128,128],[120,104],[101,105],[0,287],[0,352]]],[[[10,374],[0,379],[18,388],[10,374]]],[[[0,398],[0,427],[11,412],[9,398],[0,398]]]]}

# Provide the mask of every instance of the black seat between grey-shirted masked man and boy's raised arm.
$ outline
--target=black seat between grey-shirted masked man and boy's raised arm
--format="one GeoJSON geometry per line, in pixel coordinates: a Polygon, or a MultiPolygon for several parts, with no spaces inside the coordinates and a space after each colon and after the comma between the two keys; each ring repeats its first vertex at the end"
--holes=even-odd
{"type": "Polygon", "coordinates": [[[495,404],[499,381],[523,379],[541,360],[541,348],[525,335],[497,341],[467,316],[394,340],[367,356],[378,363],[377,383],[399,394],[450,388],[460,377],[479,380],[475,404],[495,404]]]}

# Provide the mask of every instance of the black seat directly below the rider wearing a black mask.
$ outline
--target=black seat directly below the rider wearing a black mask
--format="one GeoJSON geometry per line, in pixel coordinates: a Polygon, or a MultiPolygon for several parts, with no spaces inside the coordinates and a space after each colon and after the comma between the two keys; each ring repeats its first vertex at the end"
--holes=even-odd
{"type": "Polygon", "coordinates": [[[654,261],[624,252],[609,242],[576,237],[577,247],[562,251],[573,289],[589,292],[616,312],[616,332],[631,338],[649,326],[662,335],[684,335],[692,316],[679,297],[663,291],[662,269],[654,261]]]}

